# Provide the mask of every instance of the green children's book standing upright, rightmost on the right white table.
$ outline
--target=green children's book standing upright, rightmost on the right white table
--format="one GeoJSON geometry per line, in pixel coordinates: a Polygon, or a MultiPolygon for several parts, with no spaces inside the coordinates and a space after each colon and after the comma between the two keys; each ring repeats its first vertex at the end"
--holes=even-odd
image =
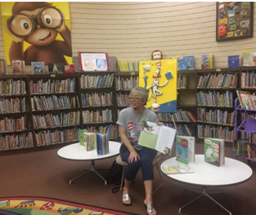
{"type": "Polygon", "coordinates": [[[225,164],[225,140],[221,138],[204,138],[204,161],[216,166],[225,164]]]}

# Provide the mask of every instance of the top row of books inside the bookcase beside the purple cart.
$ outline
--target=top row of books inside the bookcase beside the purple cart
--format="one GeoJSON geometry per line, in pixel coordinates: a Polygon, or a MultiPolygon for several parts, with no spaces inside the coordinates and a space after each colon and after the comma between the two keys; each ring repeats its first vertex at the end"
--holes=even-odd
{"type": "Polygon", "coordinates": [[[197,77],[197,88],[220,88],[220,89],[228,89],[228,88],[236,88],[237,86],[237,73],[235,74],[217,74],[217,73],[209,73],[204,76],[197,77]]]}

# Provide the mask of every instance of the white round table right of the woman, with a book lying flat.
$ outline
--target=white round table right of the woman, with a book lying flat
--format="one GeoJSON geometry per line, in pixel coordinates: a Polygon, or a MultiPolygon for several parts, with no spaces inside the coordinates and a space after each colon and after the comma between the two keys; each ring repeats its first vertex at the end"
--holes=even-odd
{"type": "MultiPolygon", "coordinates": [[[[184,165],[181,162],[176,160],[176,157],[165,160],[162,166],[165,165],[184,165]]],[[[204,155],[195,155],[195,162],[188,164],[191,169],[194,170],[194,173],[180,173],[180,174],[164,174],[168,178],[171,178],[177,182],[182,182],[190,185],[201,186],[203,188],[200,195],[194,200],[191,200],[189,203],[183,205],[179,208],[179,213],[182,213],[182,208],[185,208],[187,205],[199,200],[202,196],[207,196],[210,200],[213,200],[221,208],[230,213],[226,208],[214,200],[208,193],[207,187],[209,186],[231,186],[240,184],[247,181],[253,174],[253,170],[249,165],[245,165],[239,160],[231,159],[225,157],[225,165],[220,167],[210,165],[209,163],[204,162],[204,155]]],[[[162,169],[162,168],[161,168],[162,169]]],[[[163,173],[163,171],[162,171],[163,173]]]]}

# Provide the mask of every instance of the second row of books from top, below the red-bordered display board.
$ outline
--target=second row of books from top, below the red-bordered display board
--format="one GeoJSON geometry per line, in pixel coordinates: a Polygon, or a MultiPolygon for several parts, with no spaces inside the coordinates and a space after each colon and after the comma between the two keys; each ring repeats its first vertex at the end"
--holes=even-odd
{"type": "Polygon", "coordinates": [[[113,94],[110,93],[94,93],[81,94],[82,107],[98,107],[112,105],[113,94]]]}

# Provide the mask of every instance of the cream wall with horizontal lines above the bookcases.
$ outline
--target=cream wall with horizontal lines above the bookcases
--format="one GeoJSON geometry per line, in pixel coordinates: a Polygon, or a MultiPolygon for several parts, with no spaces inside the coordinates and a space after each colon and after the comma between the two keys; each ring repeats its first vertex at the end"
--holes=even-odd
{"type": "MultiPolygon", "coordinates": [[[[227,67],[228,55],[256,51],[254,37],[216,42],[216,2],[70,2],[73,55],[105,51],[120,60],[148,60],[155,49],[164,59],[213,54],[213,67],[227,67]]],[[[4,57],[2,23],[0,57],[4,57]]]]}

